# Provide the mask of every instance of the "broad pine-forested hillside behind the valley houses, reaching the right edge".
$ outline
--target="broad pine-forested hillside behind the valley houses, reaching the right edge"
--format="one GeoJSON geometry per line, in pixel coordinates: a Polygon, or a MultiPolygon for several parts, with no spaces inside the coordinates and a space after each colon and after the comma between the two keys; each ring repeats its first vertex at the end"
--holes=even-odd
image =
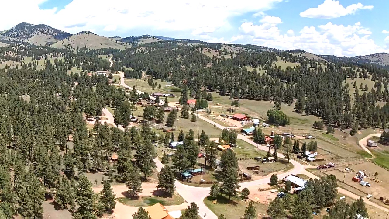
{"type": "MultiPolygon", "coordinates": [[[[388,74],[372,65],[317,62],[283,51],[230,52],[222,49],[221,44],[185,46],[163,41],[144,44],[142,48],[110,52],[114,53],[117,67],[132,67],[178,87],[185,84],[192,92],[216,90],[231,99],[265,100],[276,104],[296,101],[298,113],[322,117],[329,125],[341,129],[386,127],[387,105],[380,108],[378,102],[389,100],[388,74]],[[202,51],[207,49],[216,49],[220,56],[204,55],[202,51]],[[281,69],[274,64],[278,60],[299,65],[281,69]],[[266,73],[260,74],[261,70],[266,73]],[[359,90],[355,84],[345,84],[347,78],[357,77],[374,81],[374,87],[359,90]],[[356,87],[355,95],[350,95],[351,86],[356,87]]],[[[127,74],[129,77],[137,75],[137,72],[127,74]]]]}

